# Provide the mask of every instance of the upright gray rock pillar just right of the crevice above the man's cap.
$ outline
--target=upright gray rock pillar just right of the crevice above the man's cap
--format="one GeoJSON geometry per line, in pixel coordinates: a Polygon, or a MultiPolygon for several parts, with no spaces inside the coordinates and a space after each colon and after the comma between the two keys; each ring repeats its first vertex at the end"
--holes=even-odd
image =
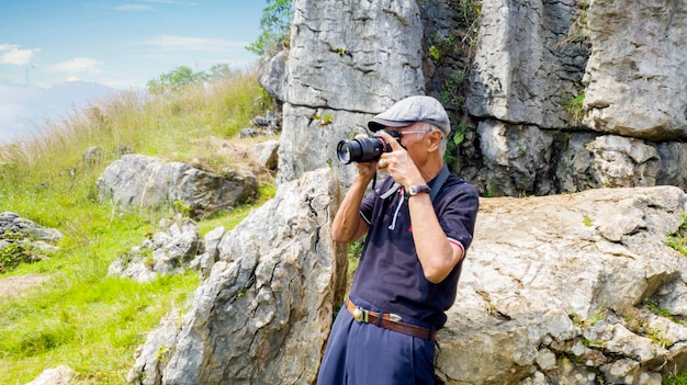
{"type": "Polygon", "coordinates": [[[564,106],[577,95],[587,57],[564,43],[574,1],[486,0],[465,107],[471,115],[542,128],[575,125],[564,106]]]}

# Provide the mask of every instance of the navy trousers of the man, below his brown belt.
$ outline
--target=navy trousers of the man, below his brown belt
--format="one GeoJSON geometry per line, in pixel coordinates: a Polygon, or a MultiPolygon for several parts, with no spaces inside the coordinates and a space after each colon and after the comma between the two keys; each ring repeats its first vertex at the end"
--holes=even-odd
{"type": "Polygon", "coordinates": [[[433,385],[433,341],[358,322],[342,306],[331,327],[317,385],[433,385]]]}

